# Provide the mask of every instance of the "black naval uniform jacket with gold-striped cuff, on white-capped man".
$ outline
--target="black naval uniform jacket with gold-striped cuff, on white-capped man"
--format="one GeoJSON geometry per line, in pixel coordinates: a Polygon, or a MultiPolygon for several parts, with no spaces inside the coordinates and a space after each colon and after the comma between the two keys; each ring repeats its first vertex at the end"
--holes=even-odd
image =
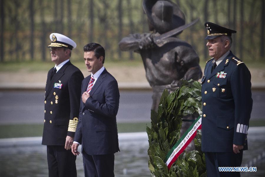
{"type": "Polygon", "coordinates": [[[45,88],[42,144],[65,145],[67,135],[74,137],[74,132],[67,130],[69,120],[78,118],[79,115],[79,96],[84,76],[70,61],[50,80],[52,70],[53,68],[48,72],[45,88]],[[54,83],[61,83],[62,88],[54,88],[54,83]]]}

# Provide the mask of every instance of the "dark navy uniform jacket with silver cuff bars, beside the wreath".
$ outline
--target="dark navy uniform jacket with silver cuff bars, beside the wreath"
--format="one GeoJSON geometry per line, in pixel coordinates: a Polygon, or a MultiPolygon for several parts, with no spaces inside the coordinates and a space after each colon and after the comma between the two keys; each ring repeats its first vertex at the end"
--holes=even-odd
{"type": "Polygon", "coordinates": [[[230,51],[213,70],[206,63],[202,78],[202,151],[233,152],[233,144],[247,150],[247,130],[252,110],[251,75],[230,51]]]}

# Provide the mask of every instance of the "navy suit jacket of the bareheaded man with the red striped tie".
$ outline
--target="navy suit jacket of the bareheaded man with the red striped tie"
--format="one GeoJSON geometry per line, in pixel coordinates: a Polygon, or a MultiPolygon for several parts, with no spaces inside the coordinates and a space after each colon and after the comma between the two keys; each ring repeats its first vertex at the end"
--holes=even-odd
{"type": "Polygon", "coordinates": [[[82,93],[87,89],[90,76],[82,81],[79,122],[74,141],[81,143],[89,155],[118,152],[116,115],[120,93],[116,79],[105,69],[90,91],[84,104],[82,93]]]}

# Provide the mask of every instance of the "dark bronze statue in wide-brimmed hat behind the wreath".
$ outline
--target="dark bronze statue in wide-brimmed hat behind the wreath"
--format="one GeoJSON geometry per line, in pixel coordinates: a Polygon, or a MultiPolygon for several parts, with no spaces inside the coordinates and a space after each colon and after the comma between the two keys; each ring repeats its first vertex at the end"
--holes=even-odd
{"type": "MultiPolygon", "coordinates": [[[[185,15],[179,7],[169,0],[143,0],[143,10],[148,17],[149,30],[152,32],[130,34],[119,42],[119,47],[124,51],[133,50],[140,53],[146,78],[153,89],[151,109],[157,111],[164,89],[171,93],[180,86],[180,80],[198,80],[202,76],[202,71],[199,57],[192,46],[176,37],[182,31],[160,40],[159,45],[154,41],[161,34],[185,24],[185,15]]],[[[181,135],[190,124],[183,122],[181,135]]],[[[192,143],[190,145],[192,146],[192,143]]]]}

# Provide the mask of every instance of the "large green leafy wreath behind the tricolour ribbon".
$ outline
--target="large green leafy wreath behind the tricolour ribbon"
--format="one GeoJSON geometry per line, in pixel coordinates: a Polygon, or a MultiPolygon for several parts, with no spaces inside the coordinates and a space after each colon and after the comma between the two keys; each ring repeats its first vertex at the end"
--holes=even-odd
{"type": "Polygon", "coordinates": [[[188,114],[201,115],[201,83],[181,81],[179,89],[169,94],[165,89],[158,106],[158,112],[151,110],[151,127],[148,134],[148,167],[152,177],[206,177],[206,163],[201,151],[201,132],[194,140],[195,150],[183,152],[170,170],[164,163],[165,156],[180,138],[182,117],[188,114]]]}

